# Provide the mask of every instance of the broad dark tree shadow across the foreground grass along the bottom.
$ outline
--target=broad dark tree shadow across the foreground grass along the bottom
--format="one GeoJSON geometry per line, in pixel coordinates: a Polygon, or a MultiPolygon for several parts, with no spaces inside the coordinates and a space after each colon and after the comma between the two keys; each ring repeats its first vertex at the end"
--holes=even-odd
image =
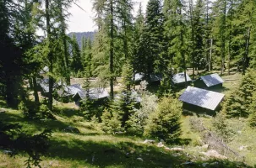
{"type": "MultiPolygon", "coordinates": [[[[95,138],[96,139],[96,138],[95,138]]],[[[236,162],[226,160],[207,160],[185,165],[192,160],[183,152],[175,152],[157,148],[153,145],[133,144],[131,142],[110,143],[106,141],[83,141],[79,139],[55,139],[46,157],[58,160],[76,160],[81,165],[95,165],[98,167],[202,167],[202,163],[215,163],[206,167],[236,167],[236,162]],[[142,160],[138,159],[141,158],[142,160]],[[221,165],[221,166],[219,166],[221,165]]],[[[193,156],[192,156],[193,157],[193,156]]],[[[203,166],[204,167],[204,166],[203,166]]],[[[249,166],[242,166],[249,167],[249,166]]]]}

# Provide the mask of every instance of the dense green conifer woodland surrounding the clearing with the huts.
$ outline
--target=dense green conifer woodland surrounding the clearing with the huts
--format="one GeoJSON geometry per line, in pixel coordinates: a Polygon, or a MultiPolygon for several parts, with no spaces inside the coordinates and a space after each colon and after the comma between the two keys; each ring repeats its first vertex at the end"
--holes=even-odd
{"type": "MultiPolygon", "coordinates": [[[[184,114],[182,102],[177,100],[181,89],[172,85],[172,76],[183,72],[197,79],[200,73],[211,71],[221,76],[241,73],[241,81],[230,88],[213,119],[213,131],[221,142],[231,142],[227,123],[236,118],[244,119],[255,131],[255,0],[149,0],[145,13],[140,4],[135,16],[132,0],[92,0],[97,29],[93,38],[91,34],[89,38],[79,36],[79,42],[77,36],[67,34],[68,8],[73,3],[0,0],[0,95],[6,108],[18,109],[33,122],[56,120],[56,84],[68,86],[73,78],[83,78],[86,92],[91,87],[110,91],[105,101],[87,98],[81,102],[83,121],[100,125],[104,134],[123,133],[177,144],[182,139],[184,114]],[[41,76],[45,67],[48,71],[41,76]],[[138,85],[136,73],[144,73],[139,104],[132,96],[138,85]],[[162,75],[159,86],[150,84],[151,74],[162,75]],[[49,80],[45,98],[37,88],[43,77],[49,80]],[[121,83],[118,91],[114,88],[117,83],[121,83]]],[[[199,118],[190,121],[192,127],[199,122],[199,118]]],[[[0,147],[25,152],[27,166],[38,166],[41,155],[50,148],[49,129],[23,134],[20,125],[0,120],[0,147]]]]}

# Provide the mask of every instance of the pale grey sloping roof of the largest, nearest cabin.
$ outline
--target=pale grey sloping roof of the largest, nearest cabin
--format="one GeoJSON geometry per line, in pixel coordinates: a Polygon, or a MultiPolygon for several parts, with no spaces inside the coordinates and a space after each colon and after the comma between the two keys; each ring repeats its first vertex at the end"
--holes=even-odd
{"type": "Polygon", "coordinates": [[[202,108],[215,110],[225,95],[219,92],[207,91],[197,87],[187,87],[179,100],[202,108]]]}

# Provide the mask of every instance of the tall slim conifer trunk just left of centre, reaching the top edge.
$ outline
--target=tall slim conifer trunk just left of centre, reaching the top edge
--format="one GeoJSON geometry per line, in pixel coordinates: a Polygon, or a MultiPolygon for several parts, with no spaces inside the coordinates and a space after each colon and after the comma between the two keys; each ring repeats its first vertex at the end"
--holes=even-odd
{"type": "Polygon", "coordinates": [[[110,2],[110,10],[111,10],[111,28],[110,28],[110,64],[109,64],[109,69],[110,69],[110,96],[113,99],[114,98],[114,70],[113,70],[113,59],[114,59],[114,9],[113,9],[113,0],[110,2]]]}

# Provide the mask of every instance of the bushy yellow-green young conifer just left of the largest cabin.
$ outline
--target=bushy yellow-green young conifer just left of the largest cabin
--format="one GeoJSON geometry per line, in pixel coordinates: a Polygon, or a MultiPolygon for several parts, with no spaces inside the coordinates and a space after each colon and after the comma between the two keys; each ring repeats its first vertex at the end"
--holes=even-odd
{"type": "Polygon", "coordinates": [[[150,114],[144,135],[173,142],[181,134],[182,103],[172,97],[163,97],[155,113],[150,114]]]}

